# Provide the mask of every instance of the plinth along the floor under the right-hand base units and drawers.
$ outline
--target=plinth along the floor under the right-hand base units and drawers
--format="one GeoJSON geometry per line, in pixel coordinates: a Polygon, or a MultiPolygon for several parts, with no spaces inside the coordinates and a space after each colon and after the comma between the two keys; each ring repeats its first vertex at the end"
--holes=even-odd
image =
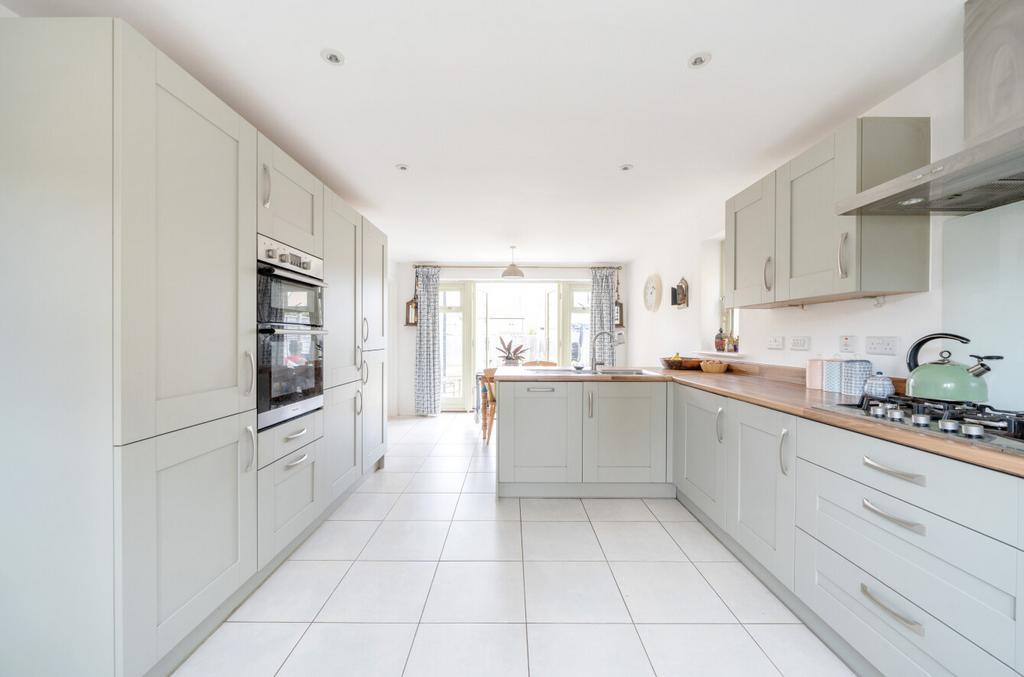
{"type": "Polygon", "coordinates": [[[836,655],[840,658],[843,663],[847,665],[850,670],[852,670],[860,677],[885,677],[878,669],[874,668],[867,659],[862,657],[857,649],[850,646],[850,644],[843,639],[842,635],[837,633],[831,627],[818,618],[817,613],[812,611],[807,604],[800,601],[800,598],[793,593],[792,590],[786,588],[782,583],[772,576],[768,569],[766,569],[761,562],[756,560],[746,550],[743,549],[741,545],[736,543],[731,536],[722,531],[722,527],[716,524],[705,514],[700,508],[696,507],[683,495],[682,492],[676,492],[676,498],[679,500],[687,510],[693,513],[693,516],[703,524],[709,532],[711,532],[715,538],[722,542],[729,552],[735,555],[751,574],[753,574],[761,583],[765,584],[769,590],[774,593],[776,597],[785,604],[794,616],[803,621],[807,629],[817,635],[818,639],[825,643],[825,645],[833,650],[836,655]]]}

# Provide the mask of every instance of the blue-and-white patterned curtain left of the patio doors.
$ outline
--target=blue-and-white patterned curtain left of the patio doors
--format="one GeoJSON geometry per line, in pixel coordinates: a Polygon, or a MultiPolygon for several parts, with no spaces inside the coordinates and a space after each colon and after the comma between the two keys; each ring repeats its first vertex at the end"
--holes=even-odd
{"type": "Polygon", "coordinates": [[[441,269],[416,268],[419,291],[416,326],[416,414],[437,416],[441,411],[441,340],[437,323],[437,287],[441,269]]]}

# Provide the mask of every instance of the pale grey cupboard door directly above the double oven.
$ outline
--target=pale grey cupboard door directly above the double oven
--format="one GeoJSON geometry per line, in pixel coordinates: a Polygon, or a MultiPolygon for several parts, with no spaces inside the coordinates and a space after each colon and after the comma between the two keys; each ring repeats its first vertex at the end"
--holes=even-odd
{"type": "Polygon", "coordinates": [[[323,181],[263,134],[258,166],[260,234],[323,257],[323,181]]]}

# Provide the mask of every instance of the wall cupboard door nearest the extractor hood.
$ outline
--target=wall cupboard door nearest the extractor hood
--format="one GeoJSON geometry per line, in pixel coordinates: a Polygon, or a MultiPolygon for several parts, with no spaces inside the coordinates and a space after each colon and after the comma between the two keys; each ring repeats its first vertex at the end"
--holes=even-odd
{"type": "Polygon", "coordinates": [[[776,171],[776,301],[859,289],[857,217],[836,214],[856,173],[856,121],[776,171]]]}

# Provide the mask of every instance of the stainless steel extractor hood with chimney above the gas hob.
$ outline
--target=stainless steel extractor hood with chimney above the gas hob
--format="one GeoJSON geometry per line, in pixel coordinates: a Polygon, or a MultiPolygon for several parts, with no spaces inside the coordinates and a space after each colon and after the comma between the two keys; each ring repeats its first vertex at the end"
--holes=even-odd
{"type": "Polygon", "coordinates": [[[842,200],[850,214],[966,214],[1024,200],[1024,1],[964,7],[967,149],[842,200]]]}

